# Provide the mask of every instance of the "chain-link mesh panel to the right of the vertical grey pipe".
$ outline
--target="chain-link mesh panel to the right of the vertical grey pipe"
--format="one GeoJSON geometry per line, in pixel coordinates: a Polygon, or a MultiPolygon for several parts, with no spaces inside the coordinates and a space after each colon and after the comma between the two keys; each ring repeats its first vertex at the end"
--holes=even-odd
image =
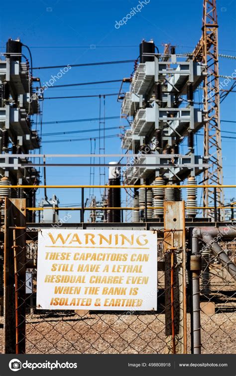
{"type": "MultiPolygon", "coordinates": [[[[235,263],[236,239],[217,241],[235,263]]],[[[236,282],[203,242],[200,275],[201,342],[203,354],[236,353],[236,282]]]]}

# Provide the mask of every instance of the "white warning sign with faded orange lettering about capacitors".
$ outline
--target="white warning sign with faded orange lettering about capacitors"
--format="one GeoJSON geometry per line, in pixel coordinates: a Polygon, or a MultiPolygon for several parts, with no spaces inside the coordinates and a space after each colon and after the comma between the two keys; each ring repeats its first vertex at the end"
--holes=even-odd
{"type": "Polygon", "coordinates": [[[37,308],[156,310],[156,234],[40,230],[37,308]]]}

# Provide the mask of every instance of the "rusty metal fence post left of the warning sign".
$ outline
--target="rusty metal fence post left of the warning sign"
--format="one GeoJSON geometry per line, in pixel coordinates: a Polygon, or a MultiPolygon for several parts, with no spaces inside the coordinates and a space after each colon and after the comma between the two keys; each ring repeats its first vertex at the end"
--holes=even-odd
{"type": "Polygon", "coordinates": [[[25,199],[5,199],[3,353],[25,353],[25,199]]]}

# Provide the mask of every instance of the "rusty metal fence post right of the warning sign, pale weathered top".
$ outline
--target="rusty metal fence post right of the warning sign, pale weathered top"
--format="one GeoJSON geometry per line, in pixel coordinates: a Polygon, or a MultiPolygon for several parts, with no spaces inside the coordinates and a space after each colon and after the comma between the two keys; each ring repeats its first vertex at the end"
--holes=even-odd
{"type": "Polygon", "coordinates": [[[185,249],[183,201],[164,202],[164,229],[166,353],[184,354],[186,351],[184,279],[186,276],[183,268],[183,250],[185,249]],[[173,344],[173,333],[175,344],[173,344]]]}

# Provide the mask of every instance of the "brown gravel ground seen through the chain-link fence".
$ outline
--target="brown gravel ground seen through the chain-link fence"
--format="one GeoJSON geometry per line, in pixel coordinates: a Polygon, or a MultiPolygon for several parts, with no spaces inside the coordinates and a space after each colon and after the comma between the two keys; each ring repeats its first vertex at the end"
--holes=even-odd
{"type": "MultiPolygon", "coordinates": [[[[2,319],[2,318],[1,318],[2,319]]],[[[143,314],[138,317],[116,314],[86,314],[27,319],[26,353],[28,354],[153,354],[165,352],[164,314],[143,314]]],[[[1,322],[2,323],[2,322],[1,322]]],[[[0,323],[0,351],[2,324],[0,323]]],[[[190,314],[188,352],[190,352],[190,314]]],[[[203,354],[236,353],[236,313],[202,313],[203,354]]]]}

